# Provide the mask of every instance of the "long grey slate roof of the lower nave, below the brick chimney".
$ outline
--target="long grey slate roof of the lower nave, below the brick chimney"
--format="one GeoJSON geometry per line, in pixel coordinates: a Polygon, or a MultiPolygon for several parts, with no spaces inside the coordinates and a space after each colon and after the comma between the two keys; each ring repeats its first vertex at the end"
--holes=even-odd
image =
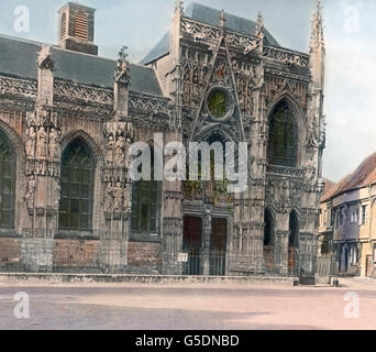
{"type": "MultiPolygon", "coordinates": [[[[37,53],[42,43],[0,35],[0,74],[19,78],[37,79],[37,53]]],[[[56,78],[77,84],[113,87],[117,62],[93,55],[62,50],[53,46],[56,78]]],[[[154,69],[131,64],[131,87],[134,92],[163,96],[154,69]]]]}

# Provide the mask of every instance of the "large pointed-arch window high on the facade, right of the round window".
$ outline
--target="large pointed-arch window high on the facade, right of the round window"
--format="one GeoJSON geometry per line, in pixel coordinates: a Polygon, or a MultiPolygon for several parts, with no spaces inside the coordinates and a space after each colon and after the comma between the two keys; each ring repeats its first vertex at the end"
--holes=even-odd
{"type": "Polygon", "coordinates": [[[297,165],[297,125],[286,101],[281,101],[269,118],[267,157],[272,165],[297,165]]]}

